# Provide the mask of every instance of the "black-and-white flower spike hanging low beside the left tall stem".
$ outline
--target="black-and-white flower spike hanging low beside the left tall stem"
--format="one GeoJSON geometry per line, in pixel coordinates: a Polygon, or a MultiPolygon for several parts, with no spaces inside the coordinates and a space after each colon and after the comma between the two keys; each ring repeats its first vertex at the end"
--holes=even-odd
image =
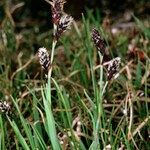
{"type": "Polygon", "coordinates": [[[39,48],[38,57],[39,57],[39,61],[40,61],[41,66],[45,70],[47,70],[50,66],[50,58],[49,58],[49,53],[48,53],[47,49],[44,47],[39,48]]]}

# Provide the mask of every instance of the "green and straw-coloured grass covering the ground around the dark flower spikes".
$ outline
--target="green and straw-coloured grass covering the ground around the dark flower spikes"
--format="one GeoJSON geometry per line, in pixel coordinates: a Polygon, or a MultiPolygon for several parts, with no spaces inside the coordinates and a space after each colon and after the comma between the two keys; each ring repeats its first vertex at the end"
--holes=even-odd
{"type": "MultiPolygon", "coordinates": [[[[0,114],[0,149],[148,149],[150,146],[149,30],[134,17],[138,33],[112,37],[88,11],[58,42],[52,80],[47,81],[36,58],[38,47],[51,50],[52,30],[15,31],[11,18],[2,21],[0,41],[0,98],[12,114],[0,114]],[[91,39],[96,27],[112,56],[122,59],[120,76],[108,82],[105,68],[94,67],[101,57],[91,39]],[[18,36],[21,39],[18,40],[18,36]],[[126,58],[130,39],[145,54],[126,58]],[[27,64],[27,65],[25,65],[27,64]],[[127,72],[128,71],[128,72],[127,72]],[[50,92],[51,91],[51,92],[50,92]],[[126,113],[123,113],[127,111],[126,113]]],[[[36,28],[36,30],[35,30],[36,28]]]]}

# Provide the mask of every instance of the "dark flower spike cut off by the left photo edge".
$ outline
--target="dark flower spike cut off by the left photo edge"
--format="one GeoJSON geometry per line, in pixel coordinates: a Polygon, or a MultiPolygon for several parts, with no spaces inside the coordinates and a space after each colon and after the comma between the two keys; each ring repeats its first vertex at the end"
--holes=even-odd
{"type": "Polygon", "coordinates": [[[0,112],[10,114],[11,107],[6,101],[0,101],[0,112]]]}

